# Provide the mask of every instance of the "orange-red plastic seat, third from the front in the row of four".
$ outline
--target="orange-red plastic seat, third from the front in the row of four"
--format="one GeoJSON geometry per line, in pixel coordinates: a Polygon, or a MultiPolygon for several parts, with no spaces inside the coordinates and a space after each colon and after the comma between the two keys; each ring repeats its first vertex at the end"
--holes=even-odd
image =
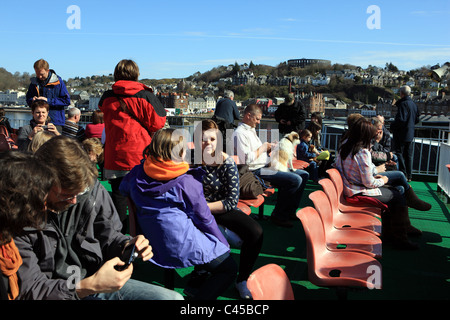
{"type": "MultiPolygon", "coordinates": [[[[333,185],[333,182],[330,179],[321,179],[319,180],[319,184],[322,186],[324,192],[323,195],[320,193],[309,195],[309,198],[315,201],[315,199],[319,199],[318,201],[324,201],[327,199],[331,205],[331,213],[332,213],[332,223],[338,229],[341,228],[351,228],[351,229],[362,229],[362,230],[370,230],[375,233],[377,236],[381,235],[382,223],[381,220],[376,218],[375,216],[361,213],[357,210],[353,212],[342,213],[338,209],[338,198],[336,194],[336,188],[333,185]]],[[[315,204],[315,202],[314,202],[315,204]]],[[[318,208],[315,205],[316,209],[318,208]]]]}

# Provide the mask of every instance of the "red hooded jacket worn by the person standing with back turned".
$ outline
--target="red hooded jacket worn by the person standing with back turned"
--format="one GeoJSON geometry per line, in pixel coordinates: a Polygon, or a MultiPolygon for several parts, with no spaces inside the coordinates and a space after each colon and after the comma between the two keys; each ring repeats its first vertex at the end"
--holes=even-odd
{"type": "Polygon", "coordinates": [[[152,89],[126,80],[117,81],[103,94],[99,109],[105,122],[105,169],[131,170],[140,164],[142,152],[151,142],[149,132],[164,127],[166,110],[152,89]],[[123,111],[119,99],[128,112],[123,111]]]}

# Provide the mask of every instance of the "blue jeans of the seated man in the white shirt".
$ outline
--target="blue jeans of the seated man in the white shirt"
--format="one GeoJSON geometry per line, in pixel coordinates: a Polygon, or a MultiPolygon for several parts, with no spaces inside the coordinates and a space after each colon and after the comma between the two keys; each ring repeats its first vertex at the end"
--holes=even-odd
{"type": "Polygon", "coordinates": [[[290,216],[295,215],[309,179],[309,173],[305,170],[282,172],[269,168],[257,169],[253,173],[269,181],[278,189],[277,203],[272,216],[280,220],[288,220],[290,216]]]}

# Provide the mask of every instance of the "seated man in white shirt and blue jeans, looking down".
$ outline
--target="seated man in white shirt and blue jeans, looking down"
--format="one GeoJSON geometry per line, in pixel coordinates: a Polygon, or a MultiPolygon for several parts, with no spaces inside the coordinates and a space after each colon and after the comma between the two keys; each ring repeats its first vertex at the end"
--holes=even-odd
{"type": "Polygon", "coordinates": [[[282,172],[267,167],[270,162],[268,154],[273,144],[263,143],[256,134],[255,128],[261,117],[262,111],[257,104],[248,105],[244,110],[242,123],[233,133],[231,141],[234,145],[229,146],[228,150],[234,150],[241,163],[247,164],[255,175],[269,181],[278,189],[278,199],[271,221],[282,227],[292,227],[289,220],[295,217],[309,174],[304,170],[282,172]]]}

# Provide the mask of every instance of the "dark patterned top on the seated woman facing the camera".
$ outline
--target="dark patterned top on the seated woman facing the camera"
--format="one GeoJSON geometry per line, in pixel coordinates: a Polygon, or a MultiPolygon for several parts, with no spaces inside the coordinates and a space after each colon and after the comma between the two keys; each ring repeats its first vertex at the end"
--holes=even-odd
{"type": "Polygon", "coordinates": [[[236,208],[239,201],[239,172],[232,157],[219,166],[203,166],[203,192],[206,201],[222,201],[226,211],[236,208]]]}

